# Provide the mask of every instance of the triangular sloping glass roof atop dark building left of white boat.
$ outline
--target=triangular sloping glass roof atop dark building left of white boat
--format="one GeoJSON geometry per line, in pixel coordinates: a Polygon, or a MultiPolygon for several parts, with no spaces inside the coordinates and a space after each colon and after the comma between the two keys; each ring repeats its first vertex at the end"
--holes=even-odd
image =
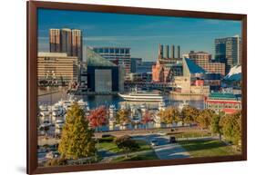
{"type": "Polygon", "coordinates": [[[87,47],[87,66],[117,66],[87,47]]]}

